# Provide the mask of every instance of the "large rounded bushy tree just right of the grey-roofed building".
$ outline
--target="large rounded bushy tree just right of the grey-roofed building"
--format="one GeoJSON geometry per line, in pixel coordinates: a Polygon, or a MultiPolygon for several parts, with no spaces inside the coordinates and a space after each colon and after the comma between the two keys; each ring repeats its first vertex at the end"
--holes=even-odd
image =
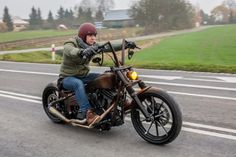
{"type": "Polygon", "coordinates": [[[131,9],[131,16],[147,33],[194,25],[194,10],[185,0],[140,0],[131,9]]]}

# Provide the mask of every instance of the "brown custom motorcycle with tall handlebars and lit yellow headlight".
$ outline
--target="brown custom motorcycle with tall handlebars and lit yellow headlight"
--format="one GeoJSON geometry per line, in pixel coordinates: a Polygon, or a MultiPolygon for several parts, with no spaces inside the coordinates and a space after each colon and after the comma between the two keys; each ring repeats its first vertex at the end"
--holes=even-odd
{"type": "MultiPolygon", "coordinates": [[[[43,91],[44,110],[55,123],[100,130],[110,130],[113,126],[122,125],[129,119],[127,114],[130,113],[135,130],[144,140],[157,145],[170,143],[178,136],[182,127],[179,106],[167,92],[145,85],[131,66],[124,66],[124,43],[125,41],[122,44],[122,61],[118,60],[110,42],[99,47],[102,57],[93,59],[93,62],[101,65],[104,58],[103,49],[110,46],[110,57],[114,66],[85,85],[88,99],[99,115],[95,123],[86,125],[77,122],[79,105],[76,104],[75,95],[61,88],[58,81],[49,83],[43,91]],[[128,109],[125,108],[127,100],[131,101],[128,109]]],[[[128,49],[129,59],[133,54],[134,52],[128,49]]]]}

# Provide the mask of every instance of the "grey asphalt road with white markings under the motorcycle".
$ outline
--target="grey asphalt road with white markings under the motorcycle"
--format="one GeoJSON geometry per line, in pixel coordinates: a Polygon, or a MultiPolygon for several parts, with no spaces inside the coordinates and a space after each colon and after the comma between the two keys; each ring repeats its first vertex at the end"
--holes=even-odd
{"type": "MultiPolygon", "coordinates": [[[[0,157],[235,157],[236,75],[137,69],[180,104],[183,128],[166,146],[145,142],[129,117],[109,132],[52,123],[41,94],[59,65],[0,62],[0,157]]],[[[93,67],[93,72],[107,68],[93,67]]]]}

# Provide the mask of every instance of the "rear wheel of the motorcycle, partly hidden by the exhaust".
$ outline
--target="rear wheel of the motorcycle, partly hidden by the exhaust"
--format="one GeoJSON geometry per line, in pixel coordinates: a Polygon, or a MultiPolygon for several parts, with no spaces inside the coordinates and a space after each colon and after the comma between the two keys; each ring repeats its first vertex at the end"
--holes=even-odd
{"type": "MultiPolygon", "coordinates": [[[[58,100],[59,99],[59,92],[58,92],[58,89],[56,87],[53,87],[53,86],[49,86],[49,87],[46,87],[44,89],[44,92],[43,92],[43,108],[44,108],[44,111],[46,112],[47,116],[55,123],[63,123],[63,121],[54,116],[48,109],[48,104],[50,104],[51,102],[55,101],[55,100],[58,100]]],[[[60,104],[56,104],[54,106],[58,111],[61,110],[60,108],[60,104]]]]}

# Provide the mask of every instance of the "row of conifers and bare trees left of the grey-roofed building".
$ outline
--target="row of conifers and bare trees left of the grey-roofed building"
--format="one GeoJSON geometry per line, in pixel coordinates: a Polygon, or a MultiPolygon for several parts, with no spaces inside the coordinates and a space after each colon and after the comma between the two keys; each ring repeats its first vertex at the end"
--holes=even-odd
{"type": "MultiPolygon", "coordinates": [[[[64,24],[68,28],[74,28],[84,22],[93,23],[96,21],[102,21],[104,19],[104,13],[113,7],[113,0],[97,0],[96,3],[92,3],[91,0],[82,0],[82,2],[75,6],[73,10],[65,9],[61,6],[57,10],[56,15],[53,15],[53,13],[49,11],[47,18],[43,19],[41,9],[33,6],[29,14],[28,29],[55,29],[60,24],[64,24]]],[[[12,30],[12,17],[9,14],[7,6],[5,6],[3,24],[0,24],[0,31],[12,30]]]]}

